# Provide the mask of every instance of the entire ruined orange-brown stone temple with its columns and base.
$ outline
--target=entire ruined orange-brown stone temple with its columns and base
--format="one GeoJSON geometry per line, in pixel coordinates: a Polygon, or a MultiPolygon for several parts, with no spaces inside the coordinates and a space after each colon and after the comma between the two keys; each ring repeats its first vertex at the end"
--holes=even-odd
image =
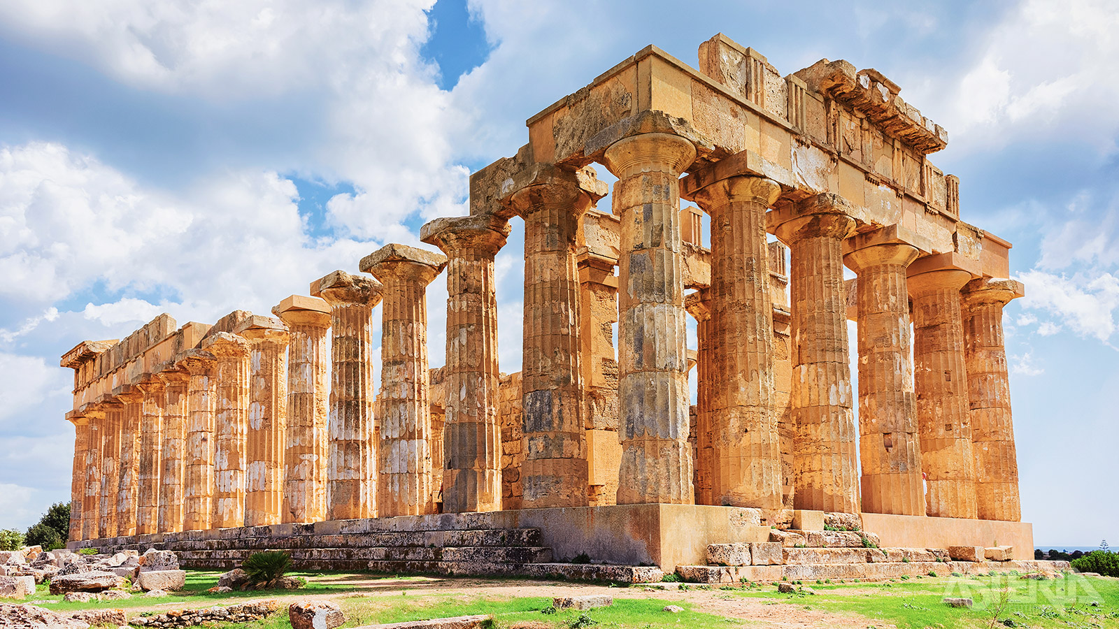
{"type": "Polygon", "coordinates": [[[1002,325],[1023,287],[928,159],[947,132],[844,60],[782,77],[716,35],[698,66],[649,46],[528,119],[471,176],[470,215],[423,226],[432,248],[341,261],[274,317],[161,314],[66,353],[70,546],[618,581],[1032,567],[1002,325]],[[609,209],[592,165],[618,179],[609,209]]]}

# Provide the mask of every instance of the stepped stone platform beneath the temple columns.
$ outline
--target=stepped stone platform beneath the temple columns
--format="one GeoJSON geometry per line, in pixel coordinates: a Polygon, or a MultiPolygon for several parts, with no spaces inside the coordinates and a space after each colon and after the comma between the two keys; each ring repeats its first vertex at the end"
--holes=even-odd
{"type": "MultiPolygon", "coordinates": [[[[822,514],[807,513],[816,513],[822,522],[822,514]]],[[[189,567],[228,569],[254,552],[286,550],[295,565],[307,570],[567,575],[639,582],[659,580],[660,571],[674,572],[677,566],[706,564],[711,544],[769,542],[772,529],[762,524],[768,522],[763,517],[758,509],[737,507],[618,505],[187,531],[88,539],[69,546],[93,546],[102,552],[172,550],[189,567]],[[581,555],[594,563],[568,563],[581,555]],[[659,567],[657,574],[648,566],[659,567]]],[[[883,546],[1002,544],[1015,547],[1013,558],[1033,558],[1028,524],[878,514],[864,514],[863,522],[864,528],[877,533],[883,546]]]]}

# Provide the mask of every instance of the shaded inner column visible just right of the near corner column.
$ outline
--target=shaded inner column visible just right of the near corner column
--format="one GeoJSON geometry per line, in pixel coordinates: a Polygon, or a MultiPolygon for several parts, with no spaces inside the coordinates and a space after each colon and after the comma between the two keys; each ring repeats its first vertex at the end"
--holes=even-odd
{"type": "Polygon", "coordinates": [[[684,300],[688,312],[696,320],[696,461],[695,491],[697,505],[716,505],[712,492],[715,451],[712,448],[712,397],[715,378],[722,377],[712,369],[712,337],[715,327],[711,320],[711,289],[696,291],[684,300]]]}

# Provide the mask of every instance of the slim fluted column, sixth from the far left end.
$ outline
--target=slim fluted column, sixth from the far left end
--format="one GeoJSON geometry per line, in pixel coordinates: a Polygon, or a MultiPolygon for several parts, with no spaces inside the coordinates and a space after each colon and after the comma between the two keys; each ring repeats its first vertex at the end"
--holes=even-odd
{"type": "Polygon", "coordinates": [[[187,396],[190,375],[160,372],[163,383],[163,448],[159,475],[159,533],[178,533],[184,523],[186,484],[187,396]]]}

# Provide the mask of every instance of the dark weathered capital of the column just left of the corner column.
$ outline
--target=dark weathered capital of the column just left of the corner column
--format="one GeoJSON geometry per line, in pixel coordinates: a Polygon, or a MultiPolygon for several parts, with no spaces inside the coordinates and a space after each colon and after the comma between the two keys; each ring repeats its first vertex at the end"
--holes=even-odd
{"type": "Polygon", "coordinates": [[[524,181],[521,187],[501,199],[517,216],[551,205],[571,207],[576,215],[583,214],[609,191],[591,167],[565,170],[552,163],[534,163],[520,179],[524,181]]]}

